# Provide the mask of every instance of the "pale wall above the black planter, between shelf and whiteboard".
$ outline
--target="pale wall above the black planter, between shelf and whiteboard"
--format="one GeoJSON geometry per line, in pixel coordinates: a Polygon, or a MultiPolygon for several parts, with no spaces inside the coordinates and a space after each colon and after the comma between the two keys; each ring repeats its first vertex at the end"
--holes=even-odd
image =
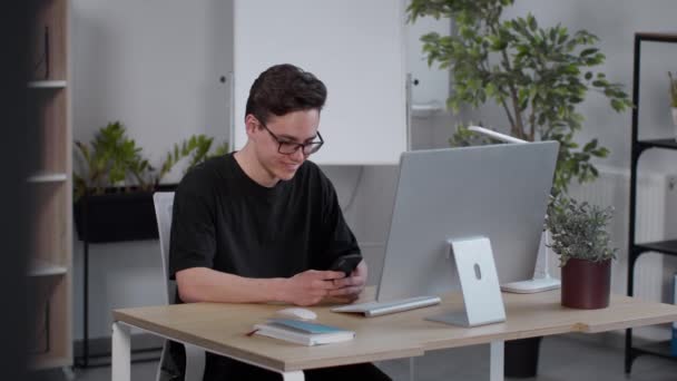
{"type": "Polygon", "coordinates": [[[119,119],[156,166],[193,134],[225,140],[230,12],[218,0],[73,1],[75,138],[119,119]]]}

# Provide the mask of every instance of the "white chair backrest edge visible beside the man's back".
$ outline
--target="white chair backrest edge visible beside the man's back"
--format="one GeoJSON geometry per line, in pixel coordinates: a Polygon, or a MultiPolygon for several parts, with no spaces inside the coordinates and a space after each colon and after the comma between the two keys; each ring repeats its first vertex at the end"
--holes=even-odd
{"type": "Polygon", "coordinates": [[[174,303],[176,283],[169,281],[169,232],[171,232],[171,208],[174,207],[174,192],[156,192],[153,195],[157,232],[160,238],[160,254],[163,258],[163,276],[165,279],[165,300],[167,304],[174,303]]]}

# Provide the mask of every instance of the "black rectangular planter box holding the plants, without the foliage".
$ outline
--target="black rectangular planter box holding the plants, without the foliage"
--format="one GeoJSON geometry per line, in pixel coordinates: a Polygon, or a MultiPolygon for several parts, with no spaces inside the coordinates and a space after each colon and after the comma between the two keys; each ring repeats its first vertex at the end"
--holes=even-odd
{"type": "MultiPolygon", "coordinates": [[[[176,185],[163,185],[157,190],[175,189],[176,185]]],[[[157,240],[153,205],[157,190],[122,193],[109,188],[102,195],[80,197],[73,205],[78,238],[89,243],[157,240]]]]}

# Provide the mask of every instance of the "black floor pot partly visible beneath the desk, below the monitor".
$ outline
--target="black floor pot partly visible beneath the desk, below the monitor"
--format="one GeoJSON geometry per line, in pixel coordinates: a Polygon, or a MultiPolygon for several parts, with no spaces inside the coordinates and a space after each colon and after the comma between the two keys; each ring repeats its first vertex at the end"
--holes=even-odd
{"type": "Polygon", "coordinates": [[[506,342],[503,374],[510,378],[533,378],[538,371],[541,336],[506,342]]]}

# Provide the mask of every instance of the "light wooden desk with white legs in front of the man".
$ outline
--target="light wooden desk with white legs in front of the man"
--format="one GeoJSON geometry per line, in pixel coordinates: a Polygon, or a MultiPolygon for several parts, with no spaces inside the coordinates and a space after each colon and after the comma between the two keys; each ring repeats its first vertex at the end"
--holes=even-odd
{"type": "Polygon", "coordinates": [[[268,304],[195,303],[115,310],[112,380],[129,381],[129,326],[166,339],[204,348],[303,380],[304,369],[345,365],[423,355],[426,351],[491,344],[490,380],[503,379],[503,341],[568,332],[597,333],[677,320],[677,306],[612,295],[608,309],[572,310],[560,305],[560,291],[503,294],[507,320],[472,329],[430,322],[423,318],[460,310],[460,294],[440,305],[379,318],[338,314],[328,306],[313,307],[320,323],[356,332],[355,340],[321,346],[301,346],[258,335],[246,336],[254,323],[281,309],[268,304]]]}

